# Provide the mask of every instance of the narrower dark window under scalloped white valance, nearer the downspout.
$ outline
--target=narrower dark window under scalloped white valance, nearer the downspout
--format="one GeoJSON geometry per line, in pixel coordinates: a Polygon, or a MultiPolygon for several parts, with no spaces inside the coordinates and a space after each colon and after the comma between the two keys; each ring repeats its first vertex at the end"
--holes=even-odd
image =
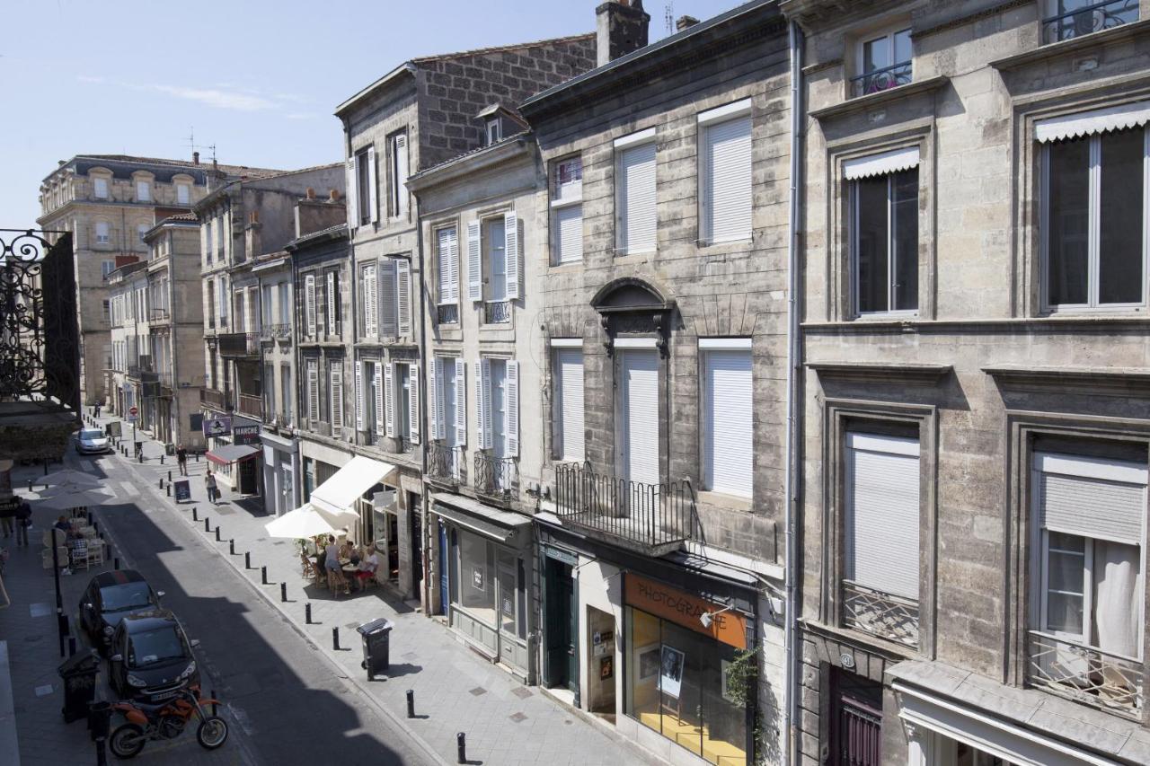
{"type": "Polygon", "coordinates": [[[849,160],[851,269],[858,314],[919,308],[919,152],[849,160]]]}

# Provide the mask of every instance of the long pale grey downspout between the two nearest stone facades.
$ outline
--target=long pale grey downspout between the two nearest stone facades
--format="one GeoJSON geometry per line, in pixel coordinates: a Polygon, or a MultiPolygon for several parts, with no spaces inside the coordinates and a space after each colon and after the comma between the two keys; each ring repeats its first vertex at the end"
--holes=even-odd
{"type": "Polygon", "coordinates": [[[798,742],[796,700],[798,699],[798,680],[802,674],[798,672],[799,644],[796,639],[798,628],[798,615],[796,614],[798,598],[796,596],[797,579],[797,545],[796,545],[796,516],[798,515],[798,470],[802,462],[796,452],[799,443],[799,416],[802,398],[797,393],[799,375],[802,369],[802,348],[799,346],[799,301],[798,293],[802,284],[799,271],[799,210],[802,201],[802,169],[803,169],[803,32],[798,23],[791,21],[788,26],[788,44],[790,47],[790,81],[791,81],[791,146],[790,146],[790,210],[788,221],[789,239],[787,243],[787,276],[789,286],[787,290],[787,473],[784,478],[787,505],[785,505],[785,537],[787,537],[787,561],[785,561],[785,590],[787,590],[787,625],[783,631],[783,656],[785,658],[787,672],[783,692],[783,753],[784,763],[798,763],[795,744],[798,742]]]}

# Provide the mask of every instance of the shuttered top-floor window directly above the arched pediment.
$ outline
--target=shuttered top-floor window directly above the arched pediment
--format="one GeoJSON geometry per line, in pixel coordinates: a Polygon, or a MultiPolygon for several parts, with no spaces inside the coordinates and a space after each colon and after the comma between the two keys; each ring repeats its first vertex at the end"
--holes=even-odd
{"type": "Polygon", "coordinates": [[[654,128],[615,139],[615,246],[623,255],[656,244],[654,128]]]}

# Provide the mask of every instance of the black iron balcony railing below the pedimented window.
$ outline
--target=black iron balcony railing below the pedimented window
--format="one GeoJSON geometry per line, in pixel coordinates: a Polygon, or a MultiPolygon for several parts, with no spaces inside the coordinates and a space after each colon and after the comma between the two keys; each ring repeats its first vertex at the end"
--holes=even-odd
{"type": "Polygon", "coordinates": [[[688,480],[647,484],[565,464],[555,468],[555,500],[564,522],[649,556],[680,547],[697,529],[688,480]]]}

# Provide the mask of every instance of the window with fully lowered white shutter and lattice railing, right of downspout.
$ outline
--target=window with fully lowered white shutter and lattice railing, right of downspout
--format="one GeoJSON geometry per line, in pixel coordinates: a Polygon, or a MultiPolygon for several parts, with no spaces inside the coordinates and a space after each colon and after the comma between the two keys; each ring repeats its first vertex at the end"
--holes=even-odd
{"type": "Polygon", "coordinates": [[[843,622],[918,648],[919,441],[846,434],[843,622]]]}

